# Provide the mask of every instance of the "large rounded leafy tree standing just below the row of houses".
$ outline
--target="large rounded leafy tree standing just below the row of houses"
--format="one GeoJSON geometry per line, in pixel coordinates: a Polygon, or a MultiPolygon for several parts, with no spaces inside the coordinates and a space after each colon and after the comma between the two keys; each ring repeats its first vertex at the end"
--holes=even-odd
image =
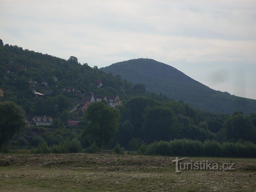
{"type": "Polygon", "coordinates": [[[82,137],[84,141],[96,142],[99,148],[107,146],[118,131],[119,111],[103,102],[93,102],[86,110],[85,126],[82,137]]]}

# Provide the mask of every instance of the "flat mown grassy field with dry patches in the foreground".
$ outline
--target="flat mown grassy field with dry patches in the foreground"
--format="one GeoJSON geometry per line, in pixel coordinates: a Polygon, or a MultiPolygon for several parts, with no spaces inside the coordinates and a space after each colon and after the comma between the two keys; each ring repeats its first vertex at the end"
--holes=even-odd
{"type": "Polygon", "coordinates": [[[235,170],[182,170],[175,157],[0,154],[0,191],[256,191],[256,159],[193,157],[235,170]]]}

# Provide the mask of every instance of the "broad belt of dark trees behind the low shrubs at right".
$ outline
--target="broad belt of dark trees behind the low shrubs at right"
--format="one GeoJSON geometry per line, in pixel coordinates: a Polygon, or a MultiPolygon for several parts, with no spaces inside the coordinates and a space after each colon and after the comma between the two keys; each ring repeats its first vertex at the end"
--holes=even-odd
{"type": "Polygon", "coordinates": [[[206,113],[183,102],[141,96],[129,99],[118,109],[121,121],[113,144],[118,142],[130,150],[134,150],[129,147],[131,140],[140,144],[183,138],[202,142],[256,142],[254,113],[249,116],[244,116],[242,112],[235,112],[232,116],[206,113]]]}

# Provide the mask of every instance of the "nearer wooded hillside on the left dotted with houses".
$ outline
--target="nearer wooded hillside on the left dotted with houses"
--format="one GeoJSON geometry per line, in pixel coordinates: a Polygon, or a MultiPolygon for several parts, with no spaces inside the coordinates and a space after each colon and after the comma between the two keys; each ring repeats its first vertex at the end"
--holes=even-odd
{"type": "MultiPolygon", "coordinates": [[[[74,56],[68,60],[42,54],[17,45],[4,44],[0,40],[0,88],[4,91],[1,100],[12,100],[26,112],[26,116],[52,116],[67,124],[68,120],[83,117],[82,100],[90,100],[93,92],[102,98],[105,95],[118,95],[124,102],[132,96],[145,93],[144,85],[133,85],[121,80],[120,76],[107,74],[87,63],[80,64],[74,56]],[[8,72],[9,71],[9,72],[8,72]],[[55,81],[54,77],[57,78],[55,81]],[[101,79],[99,89],[96,80],[101,79]],[[32,81],[29,83],[29,81],[32,81]],[[47,86],[42,84],[47,82],[47,86]],[[31,86],[44,98],[35,98],[31,86]],[[125,87],[125,92],[120,89],[125,87]],[[75,94],[63,89],[75,90],[75,94]],[[88,96],[89,95],[89,96],[88,96]],[[71,111],[79,102],[77,113],[71,111]]],[[[158,97],[156,95],[156,97],[158,97]]]]}

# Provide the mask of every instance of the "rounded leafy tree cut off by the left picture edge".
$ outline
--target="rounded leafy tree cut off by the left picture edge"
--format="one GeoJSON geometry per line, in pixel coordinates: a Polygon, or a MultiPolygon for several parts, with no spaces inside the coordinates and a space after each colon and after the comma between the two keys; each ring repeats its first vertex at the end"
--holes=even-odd
{"type": "Polygon", "coordinates": [[[0,102],[0,147],[26,125],[24,110],[11,101],[0,102]]]}

